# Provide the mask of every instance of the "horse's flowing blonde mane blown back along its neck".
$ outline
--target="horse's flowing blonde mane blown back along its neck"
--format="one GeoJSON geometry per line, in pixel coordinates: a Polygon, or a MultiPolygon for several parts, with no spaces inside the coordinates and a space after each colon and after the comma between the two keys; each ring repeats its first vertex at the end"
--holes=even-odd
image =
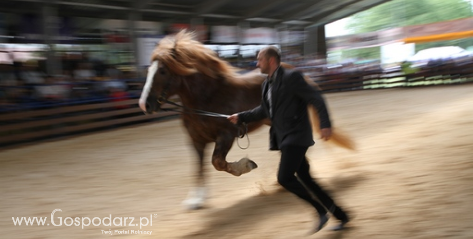
{"type": "Polygon", "coordinates": [[[239,84],[261,84],[257,72],[240,75],[237,67],[231,66],[217,54],[195,40],[195,33],[181,30],[163,38],[152,53],[152,61],[159,61],[178,76],[202,73],[211,79],[225,79],[239,84]],[[253,80],[258,79],[258,80],[253,80]],[[255,82],[256,81],[256,82],[255,82]]]}

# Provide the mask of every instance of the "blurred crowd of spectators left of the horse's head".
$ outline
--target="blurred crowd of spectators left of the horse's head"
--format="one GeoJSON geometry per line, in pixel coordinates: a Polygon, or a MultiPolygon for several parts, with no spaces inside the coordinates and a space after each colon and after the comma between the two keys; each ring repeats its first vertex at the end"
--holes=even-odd
{"type": "Polygon", "coordinates": [[[0,62],[0,112],[136,97],[142,83],[133,72],[88,57],[64,53],[62,72],[48,75],[44,60],[0,62]]]}

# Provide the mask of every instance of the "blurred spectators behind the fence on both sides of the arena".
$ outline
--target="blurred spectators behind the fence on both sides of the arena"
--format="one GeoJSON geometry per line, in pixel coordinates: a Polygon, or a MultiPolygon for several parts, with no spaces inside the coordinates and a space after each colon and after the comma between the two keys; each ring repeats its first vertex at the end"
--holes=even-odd
{"type": "MultiPolygon", "coordinates": [[[[282,61],[322,82],[347,80],[347,74],[356,78],[366,73],[399,71],[408,74],[433,71],[441,66],[462,67],[473,62],[473,54],[456,59],[404,62],[390,68],[383,68],[378,59],[349,59],[329,64],[321,56],[302,56],[296,51],[283,52],[282,61]]],[[[256,59],[246,58],[231,64],[244,72],[256,68],[256,59]]],[[[61,73],[48,75],[44,60],[0,61],[0,113],[136,99],[144,84],[144,71],[123,71],[90,58],[87,53],[64,53],[60,65],[61,73]]]]}

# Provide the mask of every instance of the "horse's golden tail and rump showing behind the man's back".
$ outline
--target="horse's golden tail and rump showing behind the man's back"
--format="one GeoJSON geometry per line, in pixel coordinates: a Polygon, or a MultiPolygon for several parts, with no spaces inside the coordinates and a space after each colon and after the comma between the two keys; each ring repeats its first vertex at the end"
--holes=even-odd
{"type": "MultiPolygon", "coordinates": [[[[283,62],[281,62],[281,65],[284,68],[289,68],[289,69],[295,68],[294,66],[289,65],[287,63],[283,63],[283,62]]],[[[317,83],[315,83],[311,78],[304,76],[304,79],[309,85],[317,88],[318,90],[321,90],[320,87],[317,85],[317,83]]],[[[317,114],[317,109],[313,105],[308,105],[307,111],[309,114],[309,118],[311,120],[312,129],[316,131],[318,135],[320,135],[321,133],[320,120],[319,120],[319,115],[317,114]]],[[[335,128],[333,125],[332,125],[332,137],[329,139],[329,142],[334,143],[345,149],[355,150],[355,142],[353,142],[353,140],[348,135],[340,131],[338,128],[335,128]]]]}

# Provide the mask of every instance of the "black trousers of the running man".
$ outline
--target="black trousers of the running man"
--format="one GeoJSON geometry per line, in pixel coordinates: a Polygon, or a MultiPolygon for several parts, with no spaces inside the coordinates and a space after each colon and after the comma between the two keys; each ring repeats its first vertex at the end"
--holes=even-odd
{"type": "Polygon", "coordinates": [[[312,178],[309,163],[305,158],[307,148],[305,146],[287,145],[281,149],[278,182],[289,192],[314,206],[320,215],[330,211],[339,220],[347,219],[347,214],[335,204],[330,195],[312,178]],[[297,174],[297,178],[295,174],[297,174]],[[309,191],[317,197],[320,203],[312,197],[309,191]]]}

